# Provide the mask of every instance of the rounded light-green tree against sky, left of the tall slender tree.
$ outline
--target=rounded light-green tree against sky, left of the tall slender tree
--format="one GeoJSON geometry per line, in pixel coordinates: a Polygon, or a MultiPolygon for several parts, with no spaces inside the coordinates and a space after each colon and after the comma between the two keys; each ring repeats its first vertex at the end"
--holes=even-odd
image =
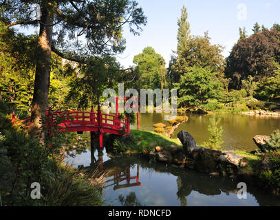
{"type": "Polygon", "coordinates": [[[134,56],[137,66],[139,84],[144,89],[158,89],[166,85],[166,68],[164,58],[153,47],[145,47],[141,54],[134,56]]]}

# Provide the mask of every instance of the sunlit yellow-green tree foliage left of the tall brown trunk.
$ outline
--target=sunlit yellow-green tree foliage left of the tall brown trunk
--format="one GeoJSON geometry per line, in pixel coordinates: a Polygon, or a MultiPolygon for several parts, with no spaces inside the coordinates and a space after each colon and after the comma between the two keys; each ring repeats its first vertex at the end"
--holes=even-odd
{"type": "Polygon", "coordinates": [[[34,84],[36,36],[16,34],[0,21],[0,98],[13,111],[28,111],[34,84]]]}

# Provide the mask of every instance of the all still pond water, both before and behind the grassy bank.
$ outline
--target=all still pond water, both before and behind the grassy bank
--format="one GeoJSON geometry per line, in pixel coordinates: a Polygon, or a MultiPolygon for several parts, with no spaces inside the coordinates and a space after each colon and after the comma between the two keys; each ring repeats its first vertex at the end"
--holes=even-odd
{"type": "MultiPolygon", "coordinates": [[[[153,124],[164,122],[162,114],[140,115],[140,127],[153,130],[153,124]]],[[[184,129],[193,135],[200,145],[208,140],[206,115],[190,115],[189,121],[181,124],[175,133],[184,129]]],[[[250,115],[220,115],[223,126],[223,149],[252,151],[252,137],[270,135],[279,129],[279,118],[250,115]]],[[[165,123],[165,122],[164,122],[165,123]]],[[[167,123],[166,123],[167,124],[167,123]]],[[[138,157],[107,156],[90,150],[70,160],[74,166],[83,165],[108,172],[103,195],[107,206],[280,206],[280,197],[263,192],[248,184],[247,199],[238,199],[238,181],[229,177],[214,177],[193,170],[149,162],[138,157]]]]}

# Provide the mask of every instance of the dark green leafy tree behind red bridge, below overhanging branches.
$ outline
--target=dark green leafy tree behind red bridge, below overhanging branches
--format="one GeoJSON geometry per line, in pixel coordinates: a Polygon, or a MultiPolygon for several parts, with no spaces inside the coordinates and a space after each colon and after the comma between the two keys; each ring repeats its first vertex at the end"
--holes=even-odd
{"type": "Polygon", "coordinates": [[[120,63],[112,56],[103,58],[91,57],[88,64],[83,65],[78,77],[69,81],[69,92],[65,99],[75,103],[77,109],[87,109],[98,104],[104,89],[111,88],[118,91],[118,82],[122,72],[120,63]]]}

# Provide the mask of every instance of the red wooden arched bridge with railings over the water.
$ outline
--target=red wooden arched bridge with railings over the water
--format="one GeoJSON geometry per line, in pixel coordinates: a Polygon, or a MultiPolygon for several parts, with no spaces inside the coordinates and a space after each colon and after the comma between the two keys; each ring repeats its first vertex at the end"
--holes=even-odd
{"type": "MultiPolygon", "coordinates": [[[[129,117],[121,118],[120,113],[118,113],[118,100],[116,98],[116,115],[110,115],[103,113],[98,105],[98,111],[95,112],[94,108],[91,111],[47,111],[47,116],[49,118],[47,126],[54,127],[54,121],[59,118],[58,130],[59,131],[69,131],[69,132],[83,132],[90,131],[96,132],[99,135],[99,146],[103,147],[103,134],[112,133],[115,135],[128,135],[130,133],[130,123],[129,117]]],[[[139,129],[139,111],[137,114],[138,118],[138,129],[139,129]]],[[[30,117],[28,124],[30,124],[30,117]]],[[[15,116],[13,113],[12,123],[15,122],[15,116]]],[[[50,129],[50,133],[54,133],[50,129]]]]}

